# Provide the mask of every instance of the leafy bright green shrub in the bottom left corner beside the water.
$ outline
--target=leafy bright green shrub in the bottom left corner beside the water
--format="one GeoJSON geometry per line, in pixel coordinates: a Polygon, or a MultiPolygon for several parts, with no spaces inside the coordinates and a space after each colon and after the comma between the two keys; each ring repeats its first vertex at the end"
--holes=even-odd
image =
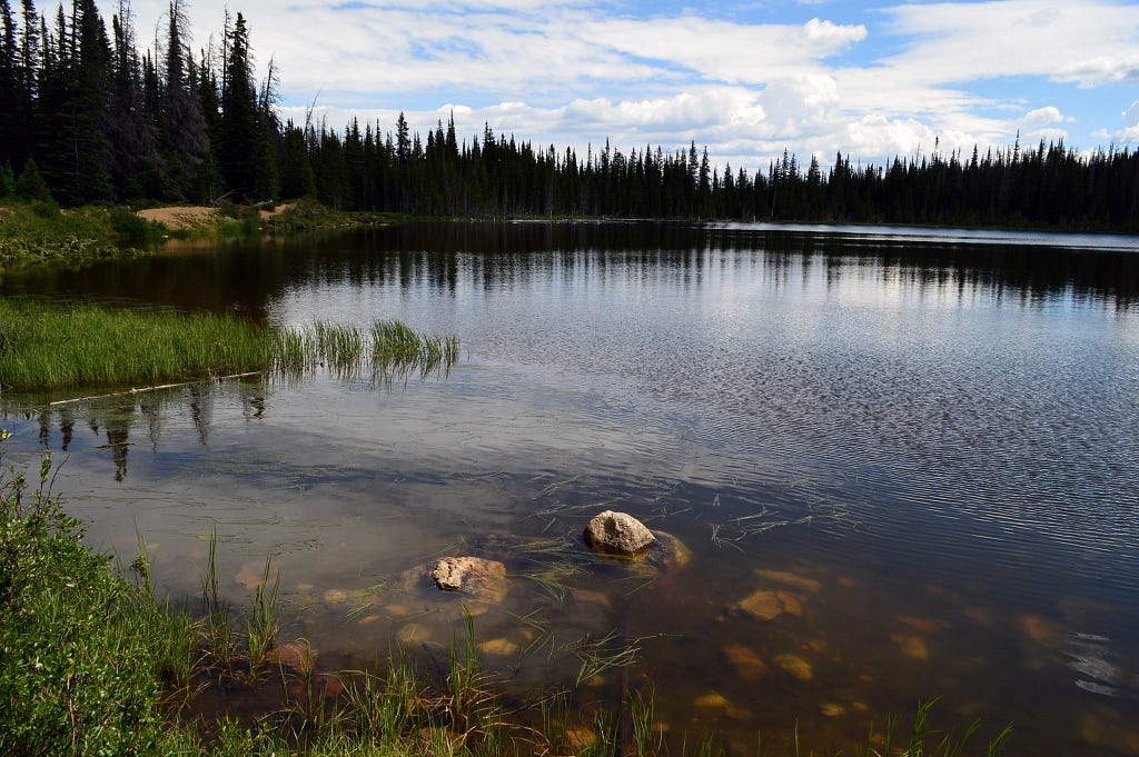
{"type": "Polygon", "coordinates": [[[158,616],[39,485],[0,484],[0,754],[161,754],[158,616]]]}

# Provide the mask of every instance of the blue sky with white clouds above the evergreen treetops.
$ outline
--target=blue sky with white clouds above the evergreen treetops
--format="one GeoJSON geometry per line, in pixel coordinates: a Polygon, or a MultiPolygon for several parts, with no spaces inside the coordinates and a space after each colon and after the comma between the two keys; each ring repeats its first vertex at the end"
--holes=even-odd
{"type": "MultiPolygon", "coordinates": [[[[188,5],[195,49],[224,0],[188,5]]],[[[281,109],[341,129],[355,115],[425,131],[454,113],[519,140],[666,151],[723,165],[784,148],[829,164],[1063,138],[1139,147],[1139,2],[992,0],[690,5],[597,0],[229,0],[281,109]],[[319,94],[318,94],[319,93],[319,94]]],[[[140,40],[165,0],[134,0],[140,40]]],[[[109,18],[109,2],[103,8],[109,18]]]]}

